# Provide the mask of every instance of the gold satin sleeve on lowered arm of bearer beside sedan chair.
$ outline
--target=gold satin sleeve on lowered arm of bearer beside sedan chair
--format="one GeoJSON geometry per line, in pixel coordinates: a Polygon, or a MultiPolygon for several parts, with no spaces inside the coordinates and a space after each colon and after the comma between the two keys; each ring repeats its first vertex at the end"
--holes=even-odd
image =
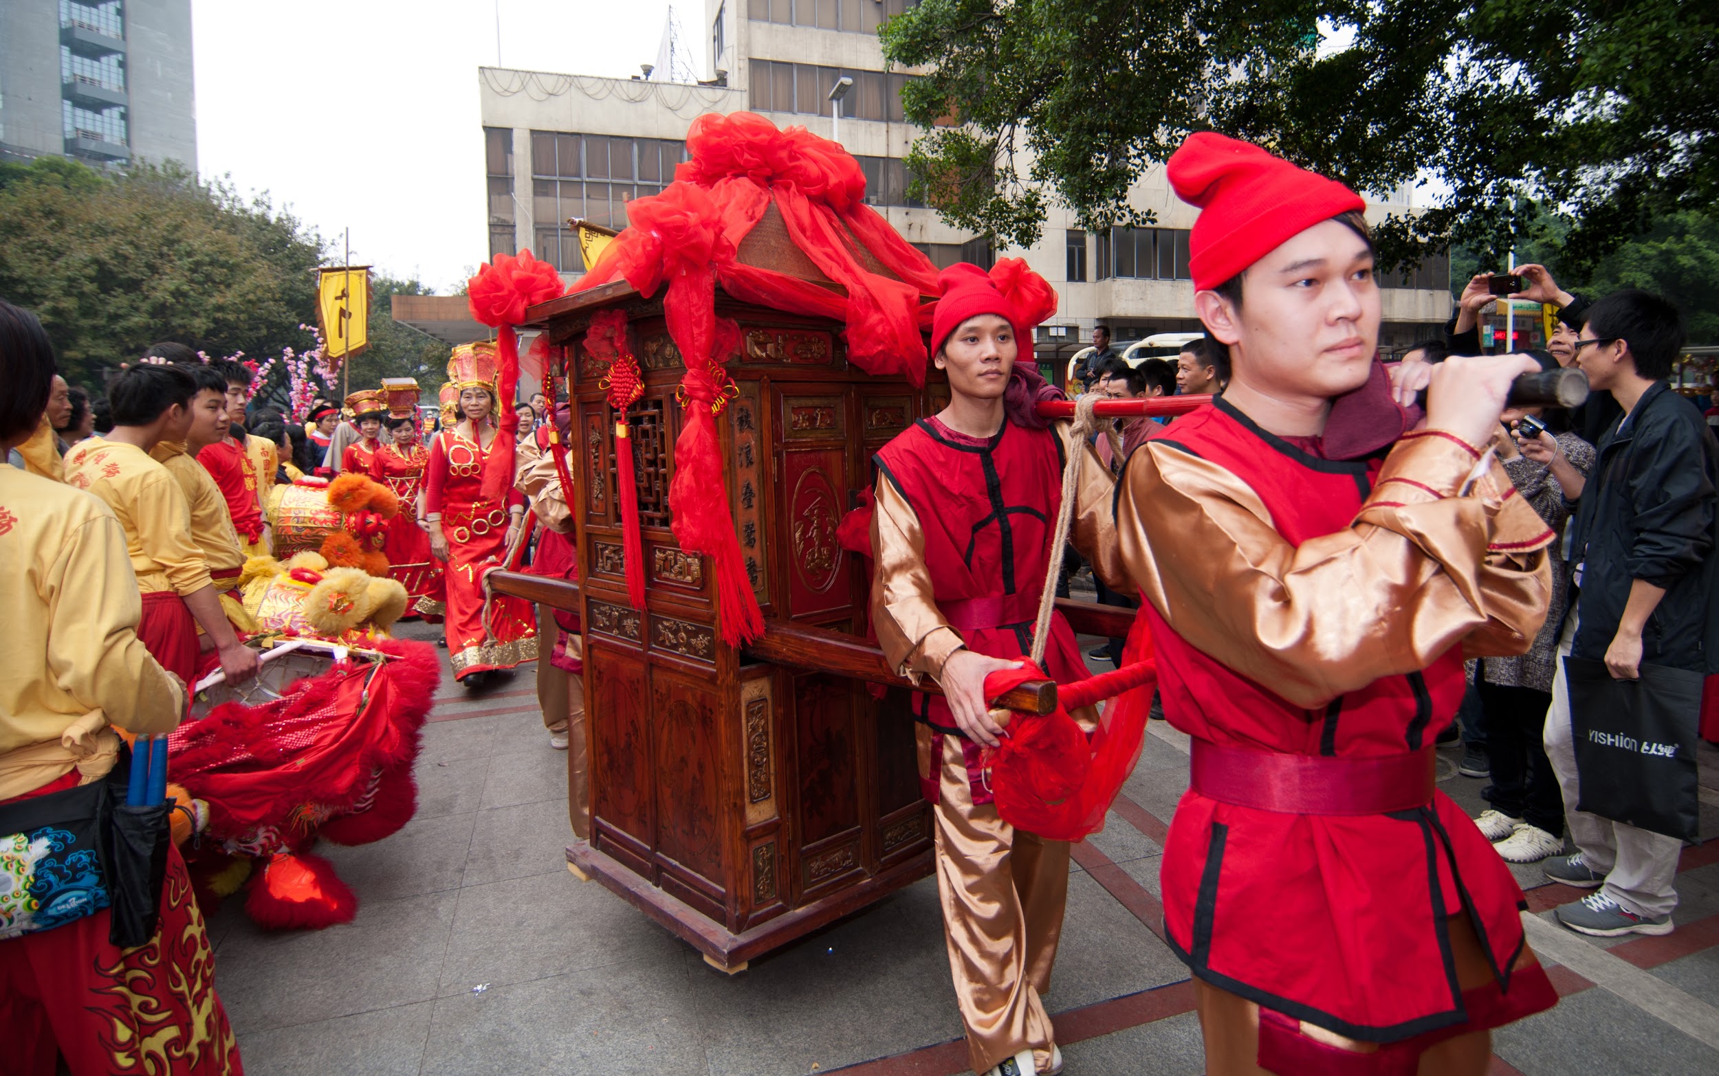
{"type": "Polygon", "coordinates": [[[872,510],[872,629],[889,667],[915,684],[930,674],[939,679],[944,662],[961,650],[961,633],[949,626],[932,600],[932,576],[925,567],[925,531],[920,517],[889,481],[877,476],[872,510]]]}

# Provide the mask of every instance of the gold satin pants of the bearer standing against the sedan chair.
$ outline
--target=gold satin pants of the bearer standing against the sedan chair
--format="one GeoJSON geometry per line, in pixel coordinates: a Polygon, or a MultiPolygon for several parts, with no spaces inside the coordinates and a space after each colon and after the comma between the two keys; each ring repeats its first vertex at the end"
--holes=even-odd
{"type": "Polygon", "coordinates": [[[1031,1048],[1043,1071],[1054,1031],[1040,997],[1062,937],[1069,846],[1016,830],[994,804],[973,806],[959,737],[944,737],[939,782],[937,894],[968,1061],[983,1073],[1031,1048]]]}

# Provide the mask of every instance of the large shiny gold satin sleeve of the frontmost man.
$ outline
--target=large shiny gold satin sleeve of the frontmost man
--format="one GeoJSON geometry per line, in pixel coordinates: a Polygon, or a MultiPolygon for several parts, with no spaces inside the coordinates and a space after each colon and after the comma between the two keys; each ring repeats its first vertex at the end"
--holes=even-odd
{"type": "Polygon", "coordinates": [[[1191,645],[1298,706],[1382,676],[1525,653],[1545,621],[1554,535],[1494,464],[1439,433],[1403,438],[1349,528],[1291,545],[1224,468],[1162,442],[1117,500],[1123,560],[1191,645]],[[1465,495],[1458,495],[1463,492],[1465,495]]]}

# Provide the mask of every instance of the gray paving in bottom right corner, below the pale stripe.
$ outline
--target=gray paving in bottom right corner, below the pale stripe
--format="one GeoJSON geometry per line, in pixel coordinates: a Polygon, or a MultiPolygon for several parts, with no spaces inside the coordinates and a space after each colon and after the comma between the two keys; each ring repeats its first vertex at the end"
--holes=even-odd
{"type": "Polygon", "coordinates": [[[1719,1050],[1597,988],[1494,1031],[1492,1052],[1525,1076],[1719,1073],[1719,1050]]]}

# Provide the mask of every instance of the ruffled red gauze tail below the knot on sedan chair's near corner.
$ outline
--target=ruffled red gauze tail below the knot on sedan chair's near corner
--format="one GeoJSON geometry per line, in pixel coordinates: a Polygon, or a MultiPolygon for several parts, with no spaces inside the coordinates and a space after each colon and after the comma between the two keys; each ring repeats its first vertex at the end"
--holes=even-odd
{"type": "Polygon", "coordinates": [[[674,510],[676,541],[689,553],[707,553],[717,571],[717,627],[722,641],[743,646],[763,634],[763,610],[753,596],[741,560],[741,543],[734,536],[719,443],[710,407],[694,400],[686,409],[686,425],[674,442],[669,505],[674,510]]]}

